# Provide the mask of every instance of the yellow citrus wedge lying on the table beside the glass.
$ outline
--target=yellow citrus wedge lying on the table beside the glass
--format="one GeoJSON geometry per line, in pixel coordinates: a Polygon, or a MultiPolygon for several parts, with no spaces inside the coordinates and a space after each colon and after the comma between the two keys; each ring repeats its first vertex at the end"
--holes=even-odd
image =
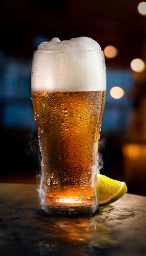
{"type": "Polygon", "coordinates": [[[125,182],[113,180],[97,174],[97,193],[99,205],[108,205],[121,198],[127,192],[125,182]]]}

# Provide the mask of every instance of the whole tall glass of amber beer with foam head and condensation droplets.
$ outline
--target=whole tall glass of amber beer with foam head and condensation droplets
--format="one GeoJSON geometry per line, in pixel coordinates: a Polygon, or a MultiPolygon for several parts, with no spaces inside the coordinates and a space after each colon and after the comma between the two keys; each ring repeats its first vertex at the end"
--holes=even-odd
{"type": "Polygon", "coordinates": [[[87,37],[43,42],[33,55],[32,99],[41,152],[40,207],[49,215],[98,211],[97,156],[105,58],[87,37]]]}

